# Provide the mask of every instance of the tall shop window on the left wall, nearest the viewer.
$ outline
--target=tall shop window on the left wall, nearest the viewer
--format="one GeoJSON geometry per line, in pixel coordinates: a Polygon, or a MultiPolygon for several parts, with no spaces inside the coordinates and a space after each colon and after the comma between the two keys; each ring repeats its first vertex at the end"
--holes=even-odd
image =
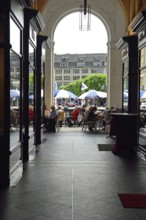
{"type": "Polygon", "coordinates": [[[22,174],[21,161],[21,30],[10,18],[10,173],[18,169],[22,174]],[[15,33],[15,35],[14,35],[15,33]]]}

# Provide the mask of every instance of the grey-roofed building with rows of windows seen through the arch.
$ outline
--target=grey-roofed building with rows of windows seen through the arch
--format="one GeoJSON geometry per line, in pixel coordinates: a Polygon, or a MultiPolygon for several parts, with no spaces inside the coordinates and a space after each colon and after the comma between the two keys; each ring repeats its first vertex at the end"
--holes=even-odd
{"type": "Polygon", "coordinates": [[[58,88],[93,73],[107,73],[106,53],[54,56],[54,77],[58,88]]]}

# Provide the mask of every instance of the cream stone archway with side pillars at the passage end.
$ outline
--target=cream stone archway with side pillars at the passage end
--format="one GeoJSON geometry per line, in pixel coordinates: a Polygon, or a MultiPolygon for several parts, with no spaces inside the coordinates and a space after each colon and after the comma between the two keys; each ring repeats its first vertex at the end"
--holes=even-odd
{"type": "MultiPolygon", "coordinates": [[[[68,2],[68,1],[67,1],[68,2]]],[[[93,1],[91,1],[93,2],[93,1]]],[[[45,20],[46,28],[45,34],[54,41],[54,31],[56,26],[59,24],[62,18],[73,12],[79,11],[79,2],[72,0],[70,4],[65,4],[66,1],[52,4],[48,3],[43,17],[45,20]],[[50,13],[49,13],[50,12],[50,13]]],[[[91,4],[91,13],[98,17],[104,24],[107,35],[107,52],[108,52],[108,105],[117,105],[121,107],[121,97],[122,97],[122,80],[121,80],[121,52],[116,49],[116,43],[119,38],[126,34],[126,18],[122,10],[121,5],[115,0],[102,0],[100,2],[93,2],[91,4]]],[[[47,51],[46,59],[49,61],[46,65],[46,73],[50,73],[48,80],[50,84],[53,85],[53,46],[51,50],[47,51]]],[[[46,94],[46,99],[51,100],[53,96],[53,88],[51,86],[46,86],[51,89],[49,91],[50,97],[46,94]]],[[[52,102],[52,100],[51,100],[52,102]]]]}

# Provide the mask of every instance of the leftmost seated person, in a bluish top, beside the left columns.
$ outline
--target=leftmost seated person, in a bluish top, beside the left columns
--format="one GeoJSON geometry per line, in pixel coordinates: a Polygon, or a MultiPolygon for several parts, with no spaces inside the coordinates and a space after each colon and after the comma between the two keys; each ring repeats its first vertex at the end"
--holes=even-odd
{"type": "Polygon", "coordinates": [[[51,106],[50,115],[45,120],[45,128],[47,131],[56,132],[56,120],[58,113],[55,109],[55,106],[51,106]]]}

